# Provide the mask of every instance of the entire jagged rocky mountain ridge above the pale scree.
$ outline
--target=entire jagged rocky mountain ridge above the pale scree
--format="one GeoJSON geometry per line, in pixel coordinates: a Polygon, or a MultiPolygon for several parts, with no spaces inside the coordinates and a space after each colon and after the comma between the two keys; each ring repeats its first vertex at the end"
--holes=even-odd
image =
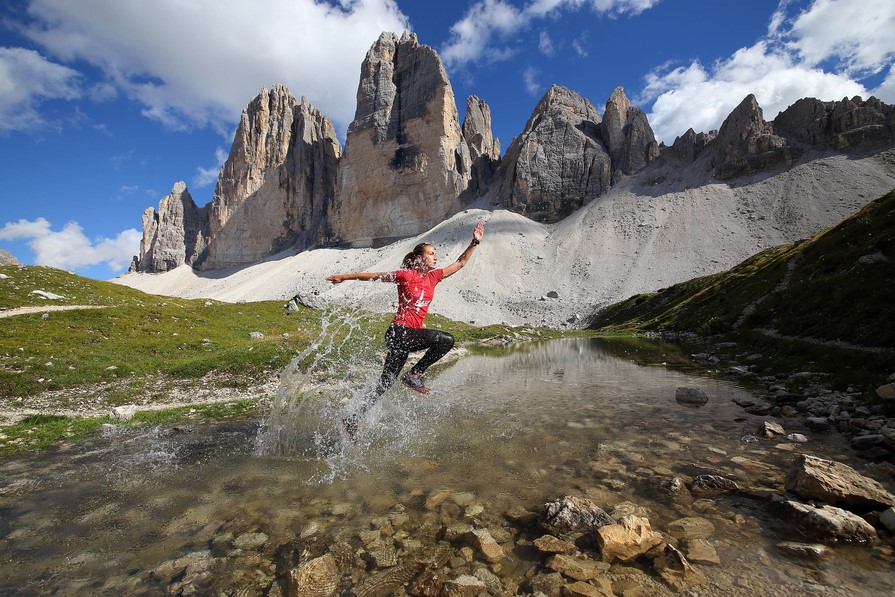
{"type": "Polygon", "coordinates": [[[466,112],[461,126],[432,48],[414,34],[383,33],[361,66],[344,151],[329,119],[304,98],[281,85],[262,90],[243,112],[212,202],[199,208],[175,184],[158,211],[144,213],[131,269],[215,270],[284,250],[376,247],[483,199],[555,223],[657,162],[699,164],[741,184],[811,152],[881,151],[895,142],[895,108],[875,98],[806,98],[766,122],[749,95],[719,131],[690,130],[664,147],[622,88],[601,116],[586,98],[554,85],[501,158],[487,104],[470,97],[466,112]]]}

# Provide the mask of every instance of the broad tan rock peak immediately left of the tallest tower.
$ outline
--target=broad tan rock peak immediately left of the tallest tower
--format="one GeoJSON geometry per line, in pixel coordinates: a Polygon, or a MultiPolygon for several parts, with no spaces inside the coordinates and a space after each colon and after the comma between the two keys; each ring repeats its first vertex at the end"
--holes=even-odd
{"type": "Polygon", "coordinates": [[[233,267],[326,239],[341,150],[330,120],[304,98],[263,89],[242,113],[196,265],[233,267]]]}

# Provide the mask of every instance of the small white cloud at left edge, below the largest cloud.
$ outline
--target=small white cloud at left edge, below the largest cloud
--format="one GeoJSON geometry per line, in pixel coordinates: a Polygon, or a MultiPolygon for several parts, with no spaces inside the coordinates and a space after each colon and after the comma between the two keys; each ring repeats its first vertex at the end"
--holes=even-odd
{"type": "Polygon", "coordinates": [[[53,126],[38,106],[81,95],[80,75],[34,50],[0,48],[0,133],[53,126]]]}

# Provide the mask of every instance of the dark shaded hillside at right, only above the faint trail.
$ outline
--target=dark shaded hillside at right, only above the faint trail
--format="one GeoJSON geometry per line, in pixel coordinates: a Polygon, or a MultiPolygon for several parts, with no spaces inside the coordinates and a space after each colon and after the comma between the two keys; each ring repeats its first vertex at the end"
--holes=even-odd
{"type": "Polygon", "coordinates": [[[895,348],[895,191],[841,224],[719,274],[641,294],[597,314],[601,331],[786,336],[895,348]],[[867,256],[885,259],[868,259],[867,256]]]}

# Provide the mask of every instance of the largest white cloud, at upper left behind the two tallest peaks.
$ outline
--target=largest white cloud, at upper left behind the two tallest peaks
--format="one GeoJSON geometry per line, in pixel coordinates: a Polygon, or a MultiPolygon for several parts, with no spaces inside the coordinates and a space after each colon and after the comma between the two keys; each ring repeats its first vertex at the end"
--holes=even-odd
{"type": "Polygon", "coordinates": [[[94,94],[118,90],[169,127],[225,135],[274,83],[344,130],[367,50],[409,27],[394,0],[31,0],[29,15],[26,35],[53,58],[103,73],[94,94]]]}

